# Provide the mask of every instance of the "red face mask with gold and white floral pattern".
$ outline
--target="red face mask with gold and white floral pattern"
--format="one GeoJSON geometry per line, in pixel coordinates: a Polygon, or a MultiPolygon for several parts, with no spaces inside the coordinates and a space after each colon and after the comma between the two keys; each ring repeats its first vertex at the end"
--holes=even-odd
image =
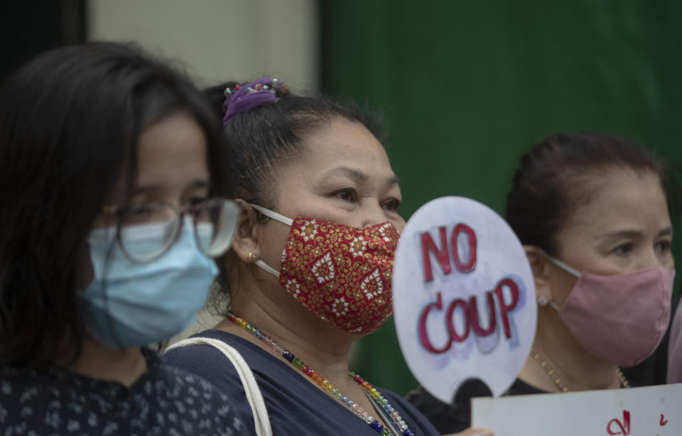
{"type": "Polygon", "coordinates": [[[391,270],[399,233],[390,222],[359,228],[251,205],[291,226],[280,271],[256,264],[306,309],[347,332],[375,332],[393,312],[391,270]]]}

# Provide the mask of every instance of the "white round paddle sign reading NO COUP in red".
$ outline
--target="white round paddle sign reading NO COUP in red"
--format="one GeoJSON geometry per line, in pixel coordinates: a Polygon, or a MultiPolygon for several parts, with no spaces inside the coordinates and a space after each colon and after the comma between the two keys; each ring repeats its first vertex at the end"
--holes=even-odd
{"type": "Polygon", "coordinates": [[[451,403],[471,379],[504,393],[529,355],[537,305],[521,242],[464,197],[423,205],[405,227],[393,274],[394,320],[415,378],[451,403]]]}

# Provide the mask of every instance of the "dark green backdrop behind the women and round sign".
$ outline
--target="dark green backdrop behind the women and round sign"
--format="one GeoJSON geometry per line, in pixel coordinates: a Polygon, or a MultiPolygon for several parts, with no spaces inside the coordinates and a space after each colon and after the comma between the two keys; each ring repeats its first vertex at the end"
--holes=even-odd
{"type": "MultiPolygon", "coordinates": [[[[320,6],[323,88],[386,114],[405,219],[443,195],[501,212],[521,153],[561,131],[629,136],[680,168],[680,1],[320,6]]],[[[680,235],[673,252],[681,271],[680,235]]],[[[354,367],[372,383],[398,393],[417,385],[391,322],[357,351],[354,367]]]]}

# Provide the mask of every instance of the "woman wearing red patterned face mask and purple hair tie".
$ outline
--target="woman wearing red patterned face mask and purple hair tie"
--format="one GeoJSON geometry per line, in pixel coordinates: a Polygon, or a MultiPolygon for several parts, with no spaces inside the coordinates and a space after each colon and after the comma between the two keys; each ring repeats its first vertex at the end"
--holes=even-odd
{"type": "MultiPolygon", "coordinates": [[[[244,357],[274,434],[438,434],[347,364],[352,342],[391,315],[391,268],[405,226],[399,179],[376,124],[357,107],[296,97],[269,78],[212,93],[245,212],[215,286],[228,297],[227,319],[199,337],[244,357]]],[[[166,356],[251,398],[215,348],[166,356]]],[[[249,420],[254,413],[242,406],[249,420]]]]}

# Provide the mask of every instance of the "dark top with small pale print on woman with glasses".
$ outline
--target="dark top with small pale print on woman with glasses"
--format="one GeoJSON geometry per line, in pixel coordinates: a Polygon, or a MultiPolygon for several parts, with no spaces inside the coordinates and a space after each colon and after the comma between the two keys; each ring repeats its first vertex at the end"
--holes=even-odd
{"type": "Polygon", "coordinates": [[[0,367],[0,436],[242,434],[227,396],[142,350],[148,369],[130,388],[65,369],[0,367]]]}

